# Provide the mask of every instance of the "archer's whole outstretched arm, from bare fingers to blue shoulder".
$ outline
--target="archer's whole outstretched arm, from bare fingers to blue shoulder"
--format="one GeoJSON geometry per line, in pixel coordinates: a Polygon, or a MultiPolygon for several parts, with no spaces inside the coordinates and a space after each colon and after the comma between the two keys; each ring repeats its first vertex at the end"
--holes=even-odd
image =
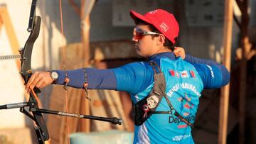
{"type": "MultiPolygon", "coordinates": [[[[93,68],[85,68],[78,70],[67,70],[68,87],[82,89],[85,84],[85,70],[87,75],[88,89],[114,89],[122,90],[132,94],[139,92],[152,81],[152,74],[148,74],[147,66],[142,62],[133,62],[122,67],[114,69],[99,70],[93,68]],[[134,84],[137,87],[134,87],[134,84]]],[[[149,67],[151,68],[151,67],[149,67]]],[[[58,79],[54,84],[65,83],[65,71],[55,70],[58,73],[58,79]]],[[[50,72],[35,72],[26,84],[26,91],[34,87],[43,88],[53,83],[50,72]],[[28,89],[30,88],[30,89],[28,89]]]]}

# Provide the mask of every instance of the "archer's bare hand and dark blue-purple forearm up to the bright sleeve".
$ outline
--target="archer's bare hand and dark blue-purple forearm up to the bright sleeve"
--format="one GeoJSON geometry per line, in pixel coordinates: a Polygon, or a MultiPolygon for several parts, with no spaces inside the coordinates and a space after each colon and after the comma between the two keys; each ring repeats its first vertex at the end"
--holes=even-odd
{"type": "MultiPolygon", "coordinates": [[[[117,89],[117,81],[114,72],[110,69],[97,70],[86,68],[87,73],[87,88],[88,89],[117,89]]],[[[82,89],[85,83],[85,70],[67,70],[68,86],[82,89]]],[[[54,84],[64,84],[65,71],[55,70],[58,73],[58,79],[54,84]]],[[[50,72],[35,72],[26,84],[26,92],[34,87],[43,88],[53,84],[53,79],[50,77],[50,72]]]]}

